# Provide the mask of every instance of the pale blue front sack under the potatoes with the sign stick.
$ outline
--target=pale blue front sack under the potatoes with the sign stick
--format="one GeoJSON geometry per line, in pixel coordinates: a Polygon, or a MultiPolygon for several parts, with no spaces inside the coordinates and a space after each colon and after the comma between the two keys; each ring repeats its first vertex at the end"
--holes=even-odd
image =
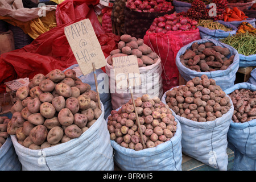
{"type": "Polygon", "coordinates": [[[169,141],[140,151],[122,147],[114,140],[110,140],[115,152],[115,164],[123,171],[181,171],[181,127],[179,121],[176,126],[176,133],[169,141]]]}

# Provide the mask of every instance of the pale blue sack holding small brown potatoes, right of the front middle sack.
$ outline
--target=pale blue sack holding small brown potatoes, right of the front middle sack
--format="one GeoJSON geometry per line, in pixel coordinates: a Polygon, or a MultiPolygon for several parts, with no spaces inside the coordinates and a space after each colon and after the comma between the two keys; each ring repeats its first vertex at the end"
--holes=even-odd
{"type": "MultiPolygon", "coordinates": [[[[171,89],[172,90],[172,89],[171,89]]],[[[162,100],[166,104],[166,92],[162,100]]],[[[210,167],[226,171],[228,154],[226,140],[234,106],[230,106],[228,113],[208,122],[196,122],[180,117],[172,110],[174,117],[180,122],[182,137],[182,152],[210,167]]]]}

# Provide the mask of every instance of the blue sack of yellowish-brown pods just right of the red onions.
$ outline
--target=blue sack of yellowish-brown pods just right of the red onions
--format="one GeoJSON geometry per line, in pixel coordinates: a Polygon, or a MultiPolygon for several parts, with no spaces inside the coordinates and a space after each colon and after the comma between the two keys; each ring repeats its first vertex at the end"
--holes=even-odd
{"type": "Polygon", "coordinates": [[[222,20],[213,22],[213,20],[201,19],[197,24],[197,28],[199,28],[202,39],[219,40],[237,33],[237,27],[222,20]]]}

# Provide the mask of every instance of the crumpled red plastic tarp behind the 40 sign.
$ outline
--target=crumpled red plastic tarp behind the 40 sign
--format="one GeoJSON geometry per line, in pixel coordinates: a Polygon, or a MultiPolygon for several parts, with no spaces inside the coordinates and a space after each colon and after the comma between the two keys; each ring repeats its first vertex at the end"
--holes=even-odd
{"type": "Polygon", "coordinates": [[[57,27],[41,34],[31,44],[0,55],[0,92],[5,92],[4,82],[17,78],[32,78],[38,73],[46,75],[52,69],[64,70],[77,64],[75,56],[64,34],[64,27],[89,18],[101,44],[105,57],[117,48],[119,36],[105,34],[99,26],[93,3],[97,1],[66,0],[57,6],[57,27]],[[88,4],[90,4],[88,6],[88,4]],[[73,8],[72,8],[73,6],[73,8]],[[87,6],[87,8],[85,8],[87,6]],[[78,12],[79,11],[79,12],[78,12]],[[60,15],[61,14],[61,15],[60,15]],[[69,17],[69,19],[68,19],[69,17]]]}

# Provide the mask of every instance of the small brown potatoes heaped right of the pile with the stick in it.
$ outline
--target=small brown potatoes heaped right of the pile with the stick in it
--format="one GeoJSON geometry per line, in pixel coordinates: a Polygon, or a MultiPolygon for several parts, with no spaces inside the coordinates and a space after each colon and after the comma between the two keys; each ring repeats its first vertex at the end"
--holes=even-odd
{"type": "Polygon", "coordinates": [[[198,122],[220,118],[232,106],[226,93],[207,75],[168,90],[166,103],[177,115],[198,122]]]}

